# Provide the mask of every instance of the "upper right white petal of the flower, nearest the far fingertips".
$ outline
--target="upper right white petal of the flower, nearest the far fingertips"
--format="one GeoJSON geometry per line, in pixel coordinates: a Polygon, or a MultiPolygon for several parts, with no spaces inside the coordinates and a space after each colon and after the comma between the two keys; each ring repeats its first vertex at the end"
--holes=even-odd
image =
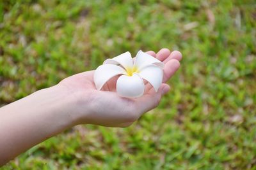
{"type": "Polygon", "coordinates": [[[151,55],[142,52],[141,50],[137,53],[135,61],[134,61],[134,65],[136,67],[138,67],[139,69],[142,69],[145,66],[154,64],[156,66],[159,66],[161,68],[164,67],[163,62],[161,62],[160,60],[157,60],[155,57],[152,57],[151,55]]]}

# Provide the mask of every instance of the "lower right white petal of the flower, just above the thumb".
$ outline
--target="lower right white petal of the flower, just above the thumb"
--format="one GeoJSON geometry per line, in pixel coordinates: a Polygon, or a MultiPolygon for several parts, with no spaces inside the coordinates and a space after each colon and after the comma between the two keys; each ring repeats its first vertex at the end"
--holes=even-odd
{"type": "Polygon", "coordinates": [[[159,66],[150,65],[143,67],[139,74],[141,78],[147,80],[157,92],[163,82],[163,69],[159,66]]]}

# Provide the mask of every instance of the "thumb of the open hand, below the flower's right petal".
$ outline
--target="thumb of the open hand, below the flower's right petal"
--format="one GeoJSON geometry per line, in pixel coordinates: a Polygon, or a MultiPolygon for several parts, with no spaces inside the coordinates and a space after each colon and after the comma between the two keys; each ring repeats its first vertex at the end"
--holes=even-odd
{"type": "Polygon", "coordinates": [[[143,113],[150,111],[156,106],[158,106],[161,101],[161,97],[166,94],[170,90],[170,86],[168,84],[163,83],[157,92],[154,89],[150,89],[148,94],[141,96],[136,99],[136,103],[138,106],[138,111],[140,111],[140,115],[143,113]]]}

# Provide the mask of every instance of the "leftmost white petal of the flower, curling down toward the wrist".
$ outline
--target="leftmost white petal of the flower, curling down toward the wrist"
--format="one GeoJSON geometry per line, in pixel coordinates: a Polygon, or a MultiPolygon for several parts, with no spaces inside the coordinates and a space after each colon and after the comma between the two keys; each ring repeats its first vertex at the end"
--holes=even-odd
{"type": "Polygon", "coordinates": [[[125,70],[120,66],[104,64],[97,67],[93,76],[96,89],[100,90],[109,79],[118,74],[125,74],[125,70]]]}

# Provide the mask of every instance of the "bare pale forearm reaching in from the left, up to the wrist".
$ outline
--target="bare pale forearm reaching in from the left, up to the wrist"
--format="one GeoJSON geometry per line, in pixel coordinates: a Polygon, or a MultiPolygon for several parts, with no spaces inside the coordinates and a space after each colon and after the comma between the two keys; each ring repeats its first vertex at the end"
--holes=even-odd
{"type": "Polygon", "coordinates": [[[0,108],[0,166],[76,124],[72,100],[60,87],[39,90],[0,108]]]}

